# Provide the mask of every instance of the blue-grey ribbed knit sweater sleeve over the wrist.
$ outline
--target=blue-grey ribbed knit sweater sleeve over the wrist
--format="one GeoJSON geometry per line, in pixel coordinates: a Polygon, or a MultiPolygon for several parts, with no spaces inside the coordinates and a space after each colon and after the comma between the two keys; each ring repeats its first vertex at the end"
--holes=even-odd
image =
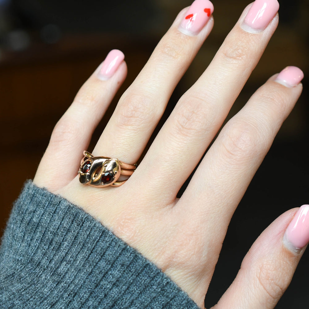
{"type": "Polygon", "coordinates": [[[0,308],[198,309],[186,293],[89,214],[31,181],[0,248],[0,308]]]}

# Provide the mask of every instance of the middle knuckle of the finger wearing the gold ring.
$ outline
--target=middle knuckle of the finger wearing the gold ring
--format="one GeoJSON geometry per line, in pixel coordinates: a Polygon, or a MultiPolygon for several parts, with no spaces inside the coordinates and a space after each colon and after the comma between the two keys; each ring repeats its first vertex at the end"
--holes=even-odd
{"type": "Polygon", "coordinates": [[[132,93],[121,99],[117,111],[118,127],[138,127],[149,124],[150,120],[158,119],[159,115],[153,108],[152,99],[147,95],[132,93]]]}

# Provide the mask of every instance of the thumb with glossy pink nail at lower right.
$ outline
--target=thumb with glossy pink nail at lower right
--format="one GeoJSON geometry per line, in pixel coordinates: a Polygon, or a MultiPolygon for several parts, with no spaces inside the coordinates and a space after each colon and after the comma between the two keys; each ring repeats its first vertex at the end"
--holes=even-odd
{"type": "Polygon", "coordinates": [[[213,309],[274,308],[308,241],[309,205],[282,214],[252,245],[234,282],[213,309]]]}

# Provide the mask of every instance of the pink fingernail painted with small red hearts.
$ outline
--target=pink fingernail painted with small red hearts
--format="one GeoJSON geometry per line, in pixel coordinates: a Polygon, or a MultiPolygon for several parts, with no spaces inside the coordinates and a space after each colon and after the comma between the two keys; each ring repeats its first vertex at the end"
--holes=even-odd
{"type": "Polygon", "coordinates": [[[189,7],[178,29],[184,34],[197,35],[210,19],[214,6],[209,0],[195,0],[189,7]]]}

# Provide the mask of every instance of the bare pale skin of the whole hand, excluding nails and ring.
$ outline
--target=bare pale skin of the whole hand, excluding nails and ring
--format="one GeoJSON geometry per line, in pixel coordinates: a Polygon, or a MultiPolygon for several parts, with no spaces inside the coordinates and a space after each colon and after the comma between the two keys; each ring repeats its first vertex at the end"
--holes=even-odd
{"type": "MultiPolygon", "coordinates": [[[[127,163],[139,159],[174,87],[213,27],[211,17],[198,35],[181,33],[178,25],[187,9],[180,12],[122,95],[95,149],[89,150],[93,155],[127,163]]],[[[97,78],[98,69],[83,85],[53,130],[34,178],[36,185],[61,194],[99,219],[154,262],[201,308],[231,216],[302,91],[301,84],[288,88],[274,81],[277,75],[269,78],[228,121],[183,196],[176,199],[277,27],[278,15],[262,32],[244,31],[240,25],[248,10],[249,6],[208,68],[180,98],[123,186],[84,186],[76,174],[93,130],[125,79],[124,61],[110,79],[97,78]],[[63,154],[67,170],[59,175],[54,162],[63,162],[63,154]]],[[[276,305],[303,252],[288,250],[282,240],[296,211],[281,215],[260,235],[216,309],[276,305]]]]}

